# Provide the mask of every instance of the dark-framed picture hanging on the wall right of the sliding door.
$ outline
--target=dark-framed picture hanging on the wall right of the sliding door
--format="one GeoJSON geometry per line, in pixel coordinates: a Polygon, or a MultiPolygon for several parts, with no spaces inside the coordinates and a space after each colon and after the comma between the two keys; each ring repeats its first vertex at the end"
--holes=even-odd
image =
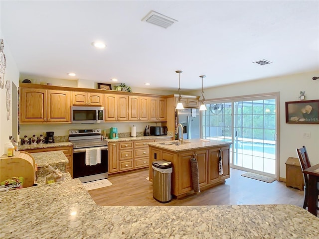
{"type": "Polygon", "coordinates": [[[319,100],[286,102],[286,123],[318,123],[319,100]]]}

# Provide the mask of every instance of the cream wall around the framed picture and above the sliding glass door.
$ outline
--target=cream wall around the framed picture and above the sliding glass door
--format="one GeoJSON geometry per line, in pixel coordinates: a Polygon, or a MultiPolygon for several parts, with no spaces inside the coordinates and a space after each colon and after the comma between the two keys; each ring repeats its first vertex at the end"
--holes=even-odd
{"type": "MultiPolygon", "coordinates": [[[[306,91],[306,100],[319,99],[319,80],[312,80],[314,76],[319,71],[204,89],[204,96],[208,100],[280,92],[280,177],[286,178],[285,162],[297,157],[296,148],[306,145],[311,163],[319,163],[319,124],[289,124],[285,116],[285,102],[298,101],[300,91],[306,91]],[[311,138],[304,138],[304,132],[311,132],[311,138]]],[[[191,94],[201,95],[201,91],[191,94]]]]}

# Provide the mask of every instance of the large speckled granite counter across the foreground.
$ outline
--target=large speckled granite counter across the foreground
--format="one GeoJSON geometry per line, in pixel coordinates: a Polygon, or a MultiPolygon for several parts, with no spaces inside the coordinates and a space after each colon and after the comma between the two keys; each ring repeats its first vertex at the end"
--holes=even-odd
{"type": "Polygon", "coordinates": [[[318,238],[292,205],[102,207],[78,179],[0,194],[0,238],[318,238]]]}

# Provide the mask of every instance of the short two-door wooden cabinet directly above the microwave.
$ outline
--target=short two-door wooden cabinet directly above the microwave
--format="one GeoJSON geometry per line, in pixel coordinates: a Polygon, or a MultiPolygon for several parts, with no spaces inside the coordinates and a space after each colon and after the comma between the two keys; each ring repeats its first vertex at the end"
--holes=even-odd
{"type": "Polygon", "coordinates": [[[72,92],[73,105],[104,106],[104,97],[100,93],[72,92]]]}

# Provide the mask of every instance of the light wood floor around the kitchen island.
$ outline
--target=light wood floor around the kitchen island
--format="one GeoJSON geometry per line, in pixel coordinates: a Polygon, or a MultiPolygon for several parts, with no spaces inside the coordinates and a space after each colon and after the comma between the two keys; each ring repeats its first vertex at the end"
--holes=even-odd
{"type": "Polygon", "coordinates": [[[292,204],[302,207],[304,202],[304,191],[286,187],[283,182],[265,183],[242,177],[243,171],[231,169],[225,184],[163,204],[153,198],[153,184],[146,179],[148,173],[148,169],[143,169],[111,175],[108,180],[112,186],[91,190],[89,194],[100,206],[292,204]]]}

